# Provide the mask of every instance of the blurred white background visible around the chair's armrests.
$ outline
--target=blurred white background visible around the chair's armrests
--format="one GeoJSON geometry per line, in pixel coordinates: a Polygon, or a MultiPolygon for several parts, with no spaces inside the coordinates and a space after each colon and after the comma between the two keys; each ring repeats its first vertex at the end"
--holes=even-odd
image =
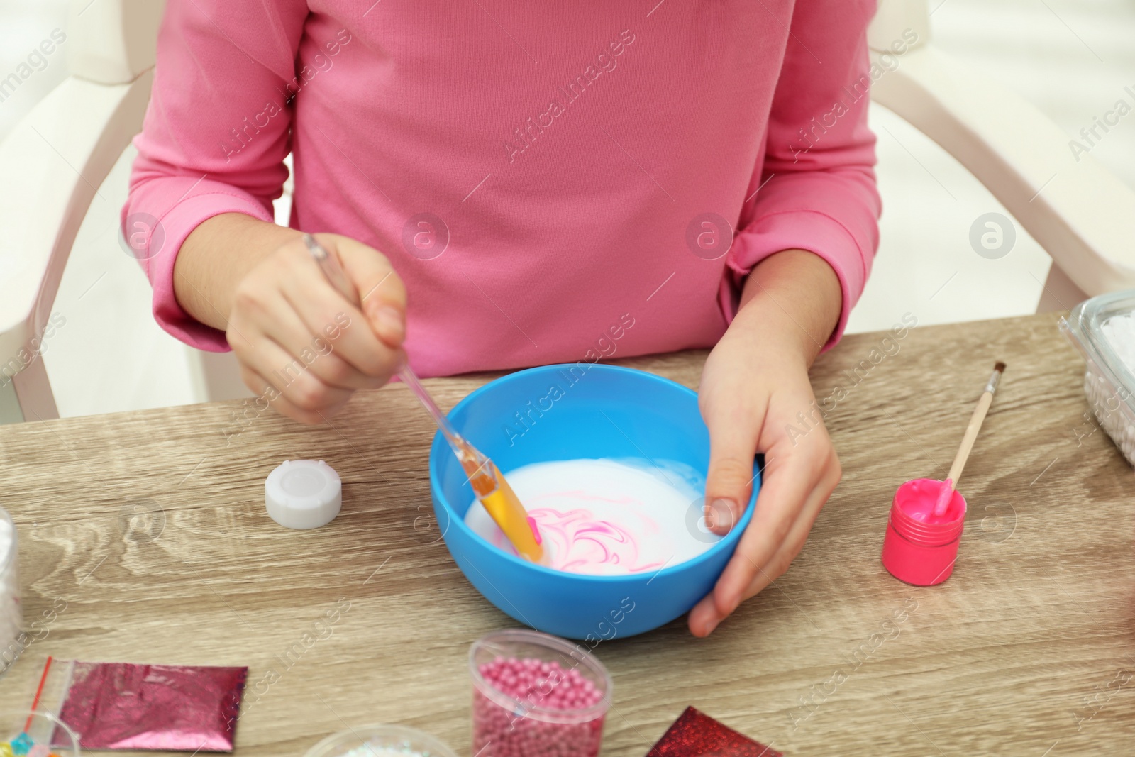
{"type": "MultiPolygon", "coordinates": [[[[933,34],[942,50],[1025,96],[1069,135],[1129,98],[1125,86],[1135,90],[1132,0],[934,2],[940,5],[933,34]]],[[[0,78],[52,30],[66,28],[66,0],[0,0],[0,78]]],[[[0,138],[65,76],[65,58],[57,53],[0,101],[0,138]]],[[[905,121],[874,106],[872,119],[878,134],[882,244],[849,330],[890,328],[906,312],[919,325],[1033,312],[1048,255],[1018,228],[1007,256],[978,256],[969,246],[970,225],[990,211],[1008,215],[1004,209],[905,121]]],[[[1121,120],[1092,155],[1135,186],[1135,118],[1121,120]]],[[[133,157],[127,150],[100,187],[104,200],[96,196],[92,204],[56,301],[66,326],[44,350],[65,417],[203,397],[187,348],[153,322],[149,284],[118,243],[133,157]]]]}

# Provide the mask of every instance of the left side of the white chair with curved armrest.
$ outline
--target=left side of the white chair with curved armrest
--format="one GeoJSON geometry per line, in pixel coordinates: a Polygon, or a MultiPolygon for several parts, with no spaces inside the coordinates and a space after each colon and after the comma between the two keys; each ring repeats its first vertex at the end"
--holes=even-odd
{"type": "MultiPolygon", "coordinates": [[[[0,423],[57,418],[36,347],[98,187],[142,128],[165,0],[73,0],[69,76],[0,143],[0,423]]],[[[210,398],[246,395],[196,353],[210,398]]]]}

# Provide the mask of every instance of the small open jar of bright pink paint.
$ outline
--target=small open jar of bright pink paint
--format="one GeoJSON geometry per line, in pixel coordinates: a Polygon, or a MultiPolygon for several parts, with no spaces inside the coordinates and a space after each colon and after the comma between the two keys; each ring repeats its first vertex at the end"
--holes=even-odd
{"type": "Polygon", "coordinates": [[[915,479],[894,493],[883,538],[883,567],[914,586],[934,586],[950,578],[966,524],[966,499],[957,491],[945,512],[934,515],[942,481],[915,479]]]}

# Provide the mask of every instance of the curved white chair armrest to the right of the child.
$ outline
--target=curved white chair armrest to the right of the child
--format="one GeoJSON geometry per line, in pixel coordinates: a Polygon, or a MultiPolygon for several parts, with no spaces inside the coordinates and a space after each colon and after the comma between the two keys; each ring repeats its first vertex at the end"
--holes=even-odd
{"type": "MultiPolygon", "coordinates": [[[[1052,258],[1037,312],[1135,287],[1135,191],[1020,96],[938,50],[924,0],[882,0],[868,31],[878,60],[903,32],[917,42],[872,100],[953,155],[1052,258]]],[[[893,54],[893,53],[892,53],[893,54]]]]}

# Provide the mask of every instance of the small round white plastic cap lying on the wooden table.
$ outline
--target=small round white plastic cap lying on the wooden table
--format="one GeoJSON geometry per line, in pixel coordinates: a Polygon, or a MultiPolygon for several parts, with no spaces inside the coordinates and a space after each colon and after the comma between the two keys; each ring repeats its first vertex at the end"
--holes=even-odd
{"type": "Polygon", "coordinates": [[[264,504],[280,525],[318,529],[339,514],[343,482],[321,460],[286,460],[264,481],[264,504]]]}

